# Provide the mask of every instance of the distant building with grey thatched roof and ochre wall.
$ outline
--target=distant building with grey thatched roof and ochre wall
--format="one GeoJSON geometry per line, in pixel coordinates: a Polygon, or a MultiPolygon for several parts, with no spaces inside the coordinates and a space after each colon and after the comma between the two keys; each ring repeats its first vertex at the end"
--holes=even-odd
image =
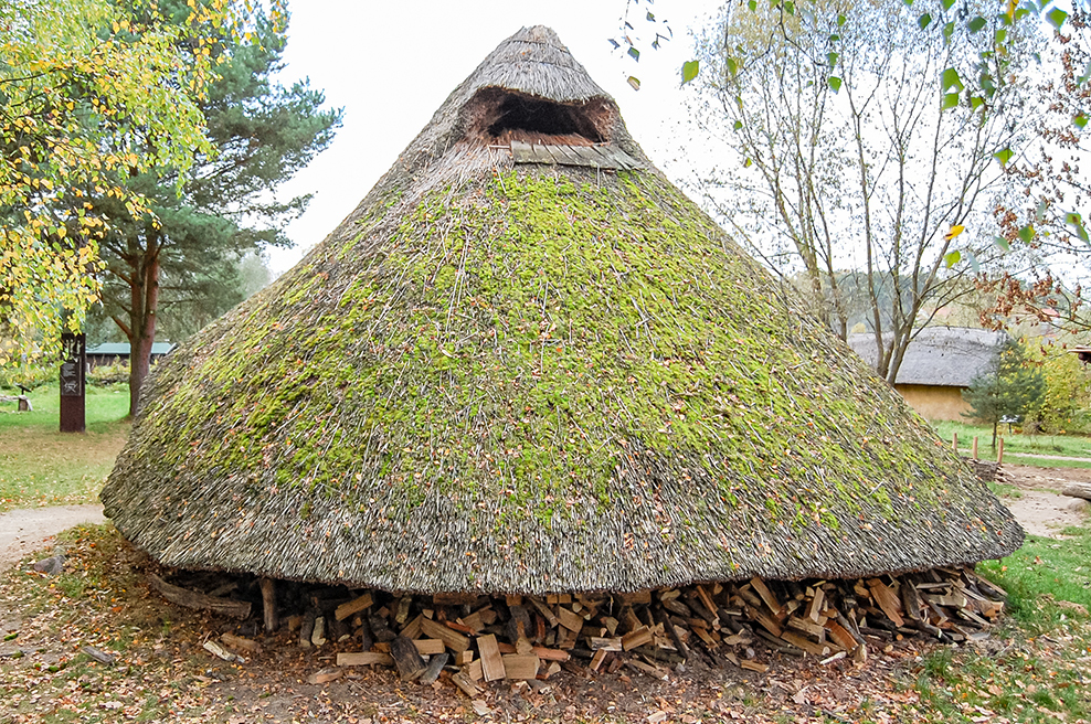
{"type": "MultiPolygon", "coordinates": [[[[898,369],[897,390],[928,419],[965,422],[970,405],[962,391],[986,372],[1011,338],[1007,332],[968,327],[928,327],[910,342],[898,369]]],[[[848,344],[875,364],[875,334],[850,334],[848,344]]]]}

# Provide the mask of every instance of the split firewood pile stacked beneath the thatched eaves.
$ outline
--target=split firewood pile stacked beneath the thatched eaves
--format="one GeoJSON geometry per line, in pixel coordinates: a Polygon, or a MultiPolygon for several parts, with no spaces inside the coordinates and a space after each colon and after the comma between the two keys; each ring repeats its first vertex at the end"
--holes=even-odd
{"type": "MultiPolygon", "coordinates": [[[[180,597],[174,587],[159,579],[153,584],[182,605],[208,607],[200,604],[216,600],[203,594],[180,597]]],[[[544,598],[348,592],[268,579],[253,581],[250,588],[259,588],[250,595],[264,600],[267,630],[287,628],[304,648],[336,649],[337,667],[320,672],[322,681],[347,667],[394,667],[402,679],[423,683],[447,671],[452,683],[472,696],[487,682],[536,682],[562,670],[586,674],[625,667],[663,679],[674,664],[695,658],[763,672],[769,667],[755,659],[761,647],[819,657],[824,663],[847,657],[862,662],[869,649],[894,639],[985,638],[1006,597],[970,568],[856,581],[752,578],[544,598]],[[274,610],[288,599],[295,613],[274,610]]],[[[235,595],[244,598],[245,586],[235,595]]],[[[215,604],[211,610],[230,607],[215,604]]],[[[253,653],[227,638],[223,642],[236,653],[253,653]]]]}

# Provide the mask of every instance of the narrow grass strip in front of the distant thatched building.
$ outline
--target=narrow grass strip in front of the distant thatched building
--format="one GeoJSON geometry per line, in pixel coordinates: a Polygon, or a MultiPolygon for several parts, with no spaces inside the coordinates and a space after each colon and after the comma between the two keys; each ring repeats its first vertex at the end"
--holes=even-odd
{"type": "MultiPolygon", "coordinates": [[[[993,429],[984,425],[968,425],[938,420],[932,423],[936,434],[949,443],[952,435],[958,434],[958,453],[971,454],[974,437],[977,437],[977,457],[983,460],[995,460],[993,450],[993,429]]],[[[1008,432],[1007,425],[1000,425],[997,434],[1004,437],[1004,461],[1013,465],[1035,465],[1050,468],[1091,468],[1091,438],[1081,435],[1021,435],[1008,432]],[[1087,460],[1044,460],[1035,455],[1049,455],[1070,458],[1087,458],[1087,460]]]]}

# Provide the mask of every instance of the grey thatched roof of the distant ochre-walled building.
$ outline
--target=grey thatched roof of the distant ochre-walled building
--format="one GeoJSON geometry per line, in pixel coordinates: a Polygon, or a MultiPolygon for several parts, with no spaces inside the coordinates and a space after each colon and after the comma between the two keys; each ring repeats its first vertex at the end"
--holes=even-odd
{"type": "MultiPolygon", "coordinates": [[[[925,327],[905,349],[898,384],[968,387],[988,370],[1007,341],[1007,332],[970,327],[925,327]]],[[[849,347],[875,364],[875,334],[849,334],[849,347]]]]}

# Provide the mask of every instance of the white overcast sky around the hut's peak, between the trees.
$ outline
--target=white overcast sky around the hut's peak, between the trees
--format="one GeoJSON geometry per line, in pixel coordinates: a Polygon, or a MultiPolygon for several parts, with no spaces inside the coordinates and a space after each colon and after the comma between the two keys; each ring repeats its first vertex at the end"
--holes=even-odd
{"type": "Polygon", "coordinates": [[[650,39],[639,43],[643,53],[634,63],[607,42],[618,35],[626,0],[295,0],[282,83],[309,77],[313,87],[326,92],[329,106],[345,107],[345,125],[330,148],[283,187],[286,198],[309,192],[315,198],[307,213],[288,226],[295,248],[269,251],[271,268],[275,274],[287,270],[332,232],[455,86],[523,25],[557,31],[617,100],[636,141],[669,173],[667,156],[678,148],[674,121],[686,114],[679,83],[682,63],[692,58],[689,29],[700,26],[718,6],[714,0],[650,6],[631,0],[637,34],[652,28],[645,20],[648,9],[674,31],[674,40],[658,51],[650,39]],[[629,75],[640,79],[639,92],[626,83],[629,75]]]}

